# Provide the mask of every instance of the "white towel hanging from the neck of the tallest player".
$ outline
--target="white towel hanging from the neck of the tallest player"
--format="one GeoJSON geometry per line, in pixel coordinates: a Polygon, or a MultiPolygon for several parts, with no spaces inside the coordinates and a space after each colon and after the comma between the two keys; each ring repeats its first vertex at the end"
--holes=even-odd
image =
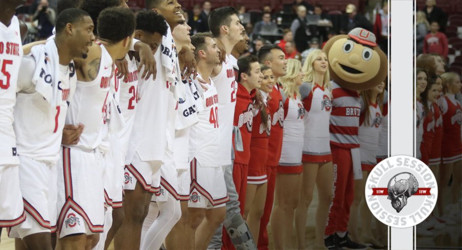
{"type": "MultiPolygon", "coordinates": [[[[166,22],[167,23],[167,22],[166,22]]],[[[160,63],[164,67],[167,83],[170,84],[170,91],[176,101],[179,99],[186,99],[183,84],[181,82],[181,70],[178,61],[178,52],[176,51],[175,42],[173,41],[172,31],[167,23],[167,35],[162,37],[160,49],[162,54],[160,56],[160,63]]]]}

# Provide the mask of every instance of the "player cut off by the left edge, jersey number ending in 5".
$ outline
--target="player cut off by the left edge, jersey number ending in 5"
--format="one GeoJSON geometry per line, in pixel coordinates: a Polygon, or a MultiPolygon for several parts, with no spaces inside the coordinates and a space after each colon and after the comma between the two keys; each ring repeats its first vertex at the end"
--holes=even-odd
{"type": "Polygon", "coordinates": [[[19,160],[13,130],[13,107],[16,102],[16,81],[22,57],[19,21],[16,8],[26,1],[2,1],[0,10],[0,232],[26,219],[19,188],[19,160]],[[9,49],[7,49],[9,48],[9,49]],[[6,192],[8,190],[8,192],[6,192]]]}

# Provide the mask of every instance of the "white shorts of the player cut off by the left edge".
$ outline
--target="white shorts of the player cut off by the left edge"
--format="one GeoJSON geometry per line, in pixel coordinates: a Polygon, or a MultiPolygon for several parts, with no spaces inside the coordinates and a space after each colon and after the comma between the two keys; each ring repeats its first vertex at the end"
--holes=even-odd
{"type": "Polygon", "coordinates": [[[19,166],[0,165],[0,190],[0,228],[14,227],[26,220],[19,187],[19,166]]]}

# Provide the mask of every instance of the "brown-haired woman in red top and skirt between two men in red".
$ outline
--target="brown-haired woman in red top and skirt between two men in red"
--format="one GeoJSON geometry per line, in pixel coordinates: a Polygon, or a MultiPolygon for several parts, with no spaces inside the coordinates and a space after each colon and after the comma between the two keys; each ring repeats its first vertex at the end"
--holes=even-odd
{"type": "Polygon", "coordinates": [[[271,116],[267,100],[273,91],[274,76],[270,67],[261,64],[262,86],[253,97],[253,124],[250,139],[250,160],[248,165],[247,190],[245,193],[244,218],[253,240],[258,242],[260,219],[263,216],[268,178],[266,160],[268,159],[268,138],[271,130],[271,116]]]}

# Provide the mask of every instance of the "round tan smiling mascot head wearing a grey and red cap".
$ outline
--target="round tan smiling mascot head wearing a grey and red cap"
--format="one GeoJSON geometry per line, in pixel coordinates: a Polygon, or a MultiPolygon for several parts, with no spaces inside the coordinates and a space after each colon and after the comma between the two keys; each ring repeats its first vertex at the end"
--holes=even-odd
{"type": "Polygon", "coordinates": [[[377,46],[375,35],[362,28],[355,28],[348,35],[332,37],[324,51],[331,78],[343,88],[370,89],[379,85],[387,75],[387,58],[377,46]]]}

